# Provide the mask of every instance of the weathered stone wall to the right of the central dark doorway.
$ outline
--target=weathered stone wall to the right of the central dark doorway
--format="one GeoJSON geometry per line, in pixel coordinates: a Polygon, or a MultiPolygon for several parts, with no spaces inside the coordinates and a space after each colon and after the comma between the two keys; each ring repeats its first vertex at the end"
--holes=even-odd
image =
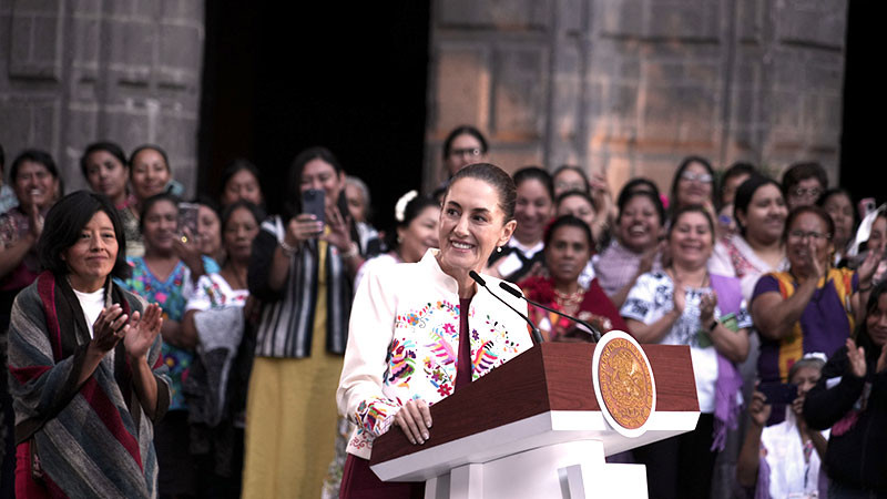
{"type": "Polygon", "coordinates": [[[680,160],[839,160],[847,2],[435,2],[426,186],[476,124],[508,170],[580,164],[667,189],[680,160]]]}

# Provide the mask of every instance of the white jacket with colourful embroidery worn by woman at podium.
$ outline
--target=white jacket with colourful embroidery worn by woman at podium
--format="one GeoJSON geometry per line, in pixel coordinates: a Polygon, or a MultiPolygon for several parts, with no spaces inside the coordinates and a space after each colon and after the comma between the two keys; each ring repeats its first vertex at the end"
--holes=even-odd
{"type": "MultiPolygon", "coordinates": [[[[429,249],[415,264],[370,269],[351,307],[348,346],[336,393],[339,413],[357,425],[348,452],[368,459],[373,440],[388,431],[410,399],[432,405],[456,387],[459,308],[456,279],[429,249]]],[[[485,275],[488,286],[499,279],[485,275]]],[[[522,301],[502,293],[514,308],[522,301]]],[[[471,379],[532,346],[527,323],[478,288],[468,310],[471,379]]]]}

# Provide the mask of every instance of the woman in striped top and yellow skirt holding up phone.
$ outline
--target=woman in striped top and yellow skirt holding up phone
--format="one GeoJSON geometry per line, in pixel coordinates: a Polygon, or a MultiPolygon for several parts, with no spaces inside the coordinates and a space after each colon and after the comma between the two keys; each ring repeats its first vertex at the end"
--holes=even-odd
{"type": "Polygon", "coordinates": [[[364,262],[344,189],[332,152],[303,151],[286,213],[263,223],[253,243],[248,287],[264,305],[246,404],[245,498],[317,496],[333,459],[351,281],[364,262]]]}

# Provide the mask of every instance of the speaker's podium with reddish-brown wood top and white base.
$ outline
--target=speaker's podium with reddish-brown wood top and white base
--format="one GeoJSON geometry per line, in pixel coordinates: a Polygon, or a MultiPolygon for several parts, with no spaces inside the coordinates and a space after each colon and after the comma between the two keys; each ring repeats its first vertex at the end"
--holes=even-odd
{"type": "Polygon", "coordinates": [[[625,437],[608,422],[592,383],[598,345],[534,346],[431,407],[431,438],[414,446],[395,427],[373,445],[386,481],[426,480],[430,498],[646,497],[643,465],[604,456],[696,427],[699,403],[686,346],[645,345],[655,410],[625,437]]]}

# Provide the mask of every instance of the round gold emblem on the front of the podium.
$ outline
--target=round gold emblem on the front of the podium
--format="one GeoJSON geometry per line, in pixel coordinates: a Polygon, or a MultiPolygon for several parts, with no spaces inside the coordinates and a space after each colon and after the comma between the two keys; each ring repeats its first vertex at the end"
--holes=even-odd
{"type": "MultiPolygon", "coordinates": [[[[600,395],[616,424],[638,429],[653,411],[653,375],[641,349],[626,338],[598,345],[600,395]]],[[[603,408],[602,408],[603,409],[603,408]]]]}

